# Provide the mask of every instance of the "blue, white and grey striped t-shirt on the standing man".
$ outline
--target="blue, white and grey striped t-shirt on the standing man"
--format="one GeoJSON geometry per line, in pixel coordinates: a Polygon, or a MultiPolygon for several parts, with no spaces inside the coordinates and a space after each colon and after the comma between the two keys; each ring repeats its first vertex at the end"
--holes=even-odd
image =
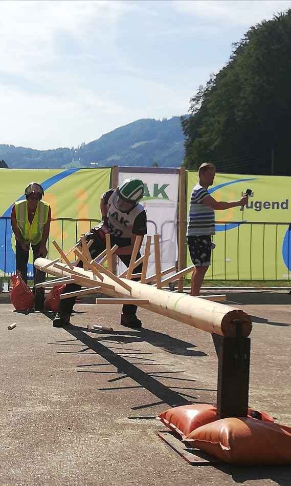
{"type": "Polygon", "coordinates": [[[187,236],[214,235],[214,209],[203,204],[203,199],[209,192],[200,184],[196,184],[191,194],[187,236]]]}

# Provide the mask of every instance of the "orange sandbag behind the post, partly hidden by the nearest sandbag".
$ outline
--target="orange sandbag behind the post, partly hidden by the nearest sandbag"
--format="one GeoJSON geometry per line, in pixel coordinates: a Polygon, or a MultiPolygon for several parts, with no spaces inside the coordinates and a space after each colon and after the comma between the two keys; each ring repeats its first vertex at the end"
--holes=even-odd
{"type": "MultiPolygon", "coordinates": [[[[252,417],[253,409],[248,409],[248,416],[252,417]]],[[[261,414],[261,420],[274,422],[271,415],[265,412],[257,412],[261,414]]],[[[256,414],[254,414],[256,416],[256,414]]],[[[214,422],[219,417],[216,415],[216,406],[208,403],[194,403],[192,405],[183,405],[181,407],[174,407],[172,409],[162,412],[158,420],[164,423],[166,427],[185,438],[197,427],[201,427],[206,423],[214,422]]]]}

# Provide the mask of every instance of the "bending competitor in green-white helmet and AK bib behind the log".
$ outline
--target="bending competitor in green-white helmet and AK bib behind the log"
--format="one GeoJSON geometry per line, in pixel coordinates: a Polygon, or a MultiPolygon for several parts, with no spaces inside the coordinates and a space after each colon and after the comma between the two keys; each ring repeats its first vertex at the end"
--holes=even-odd
{"type": "MultiPolygon", "coordinates": [[[[146,212],[139,201],[144,195],[143,181],[126,179],[117,189],[105,192],[100,201],[102,224],[86,233],[86,241],[93,240],[89,249],[92,258],[96,258],[106,248],[105,234],[110,233],[111,247],[118,245],[116,254],[128,267],[133,246],[138,235],[147,233],[146,212]]],[[[140,258],[138,253],[137,258],[140,258]]],[[[83,267],[82,261],[78,267],[83,267]]],[[[135,269],[141,273],[142,264],[135,269]]],[[[134,280],[134,279],[133,279],[134,280]]],[[[66,285],[63,293],[79,290],[75,283],[66,285]]],[[[54,327],[62,327],[70,323],[70,316],[75,303],[75,297],[60,300],[58,314],[53,320],[54,327]]],[[[124,305],[122,308],[121,325],[132,329],[140,329],[142,323],[136,315],[137,306],[124,305]]]]}

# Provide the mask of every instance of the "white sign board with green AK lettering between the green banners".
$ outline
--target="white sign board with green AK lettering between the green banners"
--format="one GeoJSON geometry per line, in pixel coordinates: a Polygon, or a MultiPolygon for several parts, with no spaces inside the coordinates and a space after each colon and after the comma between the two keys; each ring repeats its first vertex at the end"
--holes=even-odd
{"type": "MultiPolygon", "coordinates": [[[[162,172],[161,169],[156,172],[122,172],[122,167],[120,167],[119,170],[119,184],[129,177],[142,179],[145,193],[140,204],[142,204],[147,213],[147,234],[152,236],[159,234],[161,236],[161,269],[165,270],[173,267],[178,255],[177,200],[179,174],[174,171],[167,171],[167,169],[165,172],[162,172]]],[[[145,242],[146,237],[144,237],[141,248],[142,255],[144,254],[145,242]]],[[[119,259],[118,268],[120,273],[126,268],[119,259]]],[[[154,245],[152,237],[147,276],[154,273],[154,245]]]]}

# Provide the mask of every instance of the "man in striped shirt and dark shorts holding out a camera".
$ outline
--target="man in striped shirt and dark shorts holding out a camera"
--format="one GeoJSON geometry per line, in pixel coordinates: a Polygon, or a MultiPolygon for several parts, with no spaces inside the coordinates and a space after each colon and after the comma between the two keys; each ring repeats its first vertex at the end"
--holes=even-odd
{"type": "Polygon", "coordinates": [[[208,162],[198,169],[199,183],[192,190],[191,204],[187,228],[187,242],[195,270],[191,278],[191,295],[199,295],[199,291],[211,261],[211,250],[215,245],[211,235],[215,234],[214,210],[230,209],[244,206],[247,197],[239,201],[218,202],[208,192],[215,176],[215,166],[208,162]]]}

